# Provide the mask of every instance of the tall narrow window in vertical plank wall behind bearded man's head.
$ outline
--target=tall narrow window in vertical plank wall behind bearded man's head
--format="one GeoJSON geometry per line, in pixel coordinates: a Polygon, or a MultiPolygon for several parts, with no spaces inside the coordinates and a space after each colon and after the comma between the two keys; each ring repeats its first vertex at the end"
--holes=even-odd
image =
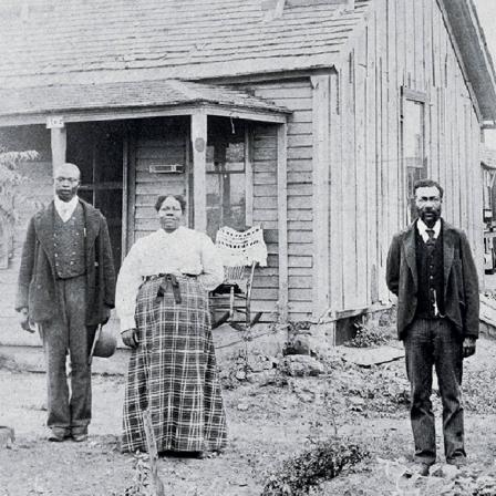
{"type": "Polygon", "coordinates": [[[402,152],[403,174],[406,189],[406,220],[415,217],[413,185],[416,180],[427,177],[427,161],[425,157],[425,103],[409,97],[403,100],[402,115],[402,152]]]}

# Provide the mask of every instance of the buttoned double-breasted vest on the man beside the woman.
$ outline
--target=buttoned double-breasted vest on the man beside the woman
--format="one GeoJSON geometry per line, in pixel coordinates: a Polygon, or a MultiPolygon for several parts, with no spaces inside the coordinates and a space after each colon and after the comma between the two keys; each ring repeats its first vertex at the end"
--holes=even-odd
{"type": "Polygon", "coordinates": [[[54,211],[53,252],[55,256],[55,273],[59,279],[82,276],[86,271],[84,213],[78,204],[72,217],[64,223],[54,211]]]}

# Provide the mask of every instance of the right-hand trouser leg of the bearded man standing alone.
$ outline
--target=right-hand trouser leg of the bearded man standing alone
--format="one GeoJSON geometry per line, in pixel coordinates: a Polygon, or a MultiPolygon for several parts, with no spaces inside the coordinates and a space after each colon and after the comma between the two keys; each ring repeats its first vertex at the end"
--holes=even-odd
{"type": "Polygon", "coordinates": [[[462,402],[463,347],[447,320],[437,323],[434,341],[435,366],[443,402],[443,434],[446,461],[465,458],[462,402]]]}

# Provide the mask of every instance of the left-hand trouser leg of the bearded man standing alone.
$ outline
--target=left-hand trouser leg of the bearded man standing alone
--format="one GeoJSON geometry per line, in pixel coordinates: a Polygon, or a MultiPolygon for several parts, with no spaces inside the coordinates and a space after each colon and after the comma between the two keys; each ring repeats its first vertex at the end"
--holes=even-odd
{"type": "Polygon", "coordinates": [[[432,411],[434,363],[431,321],[416,319],[405,339],[406,373],[411,384],[411,410],[415,459],[428,465],[436,459],[435,421],[432,411]]]}

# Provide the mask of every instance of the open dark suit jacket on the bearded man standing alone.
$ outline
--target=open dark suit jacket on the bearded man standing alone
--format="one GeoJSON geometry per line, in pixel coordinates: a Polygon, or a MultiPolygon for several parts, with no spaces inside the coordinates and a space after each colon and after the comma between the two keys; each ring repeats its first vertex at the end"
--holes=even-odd
{"type": "MultiPolygon", "coordinates": [[[[397,296],[397,335],[403,340],[417,304],[416,223],[396,234],[388,254],[388,288],[397,296]]],[[[478,280],[465,234],[442,220],[446,318],[461,337],[478,337],[478,280]]]]}

